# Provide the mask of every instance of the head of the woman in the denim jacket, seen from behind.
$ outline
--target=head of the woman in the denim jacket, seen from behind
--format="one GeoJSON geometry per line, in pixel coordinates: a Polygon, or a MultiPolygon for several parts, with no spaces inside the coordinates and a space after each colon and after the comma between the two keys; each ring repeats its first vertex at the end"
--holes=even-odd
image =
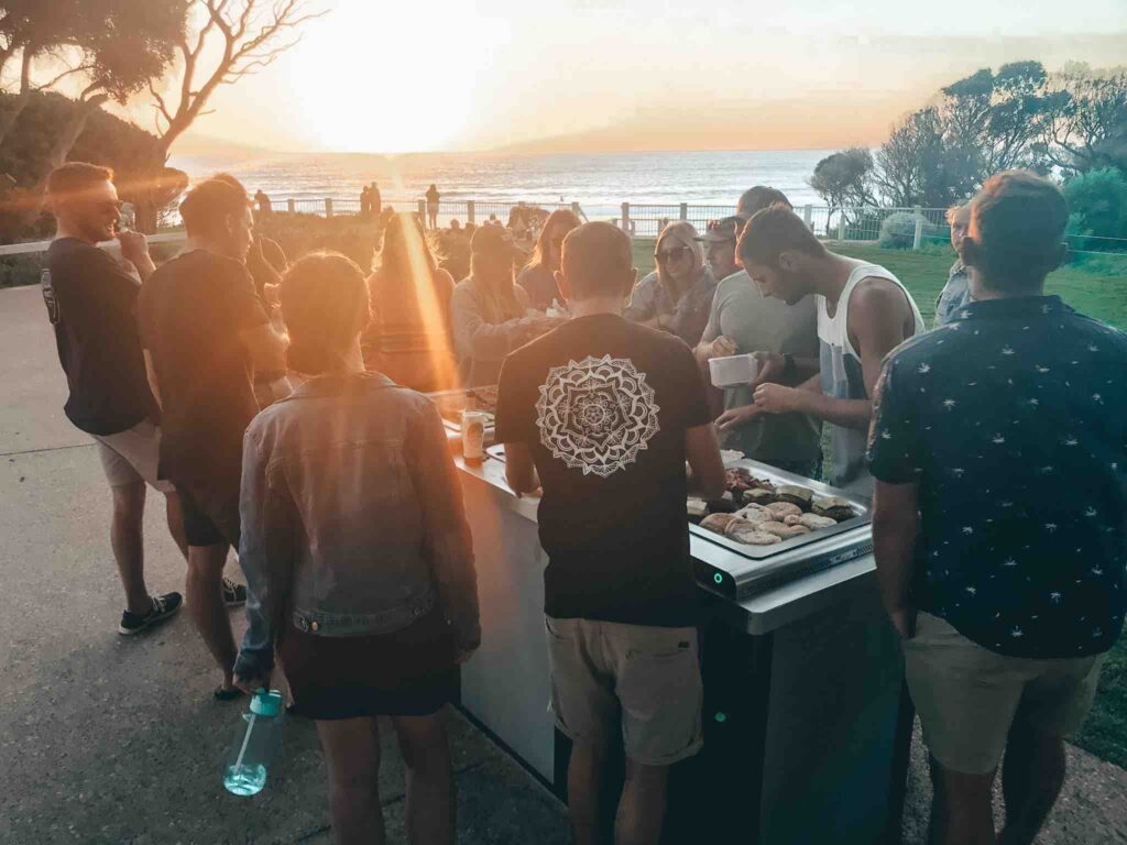
{"type": "Polygon", "coordinates": [[[364,274],[339,252],[313,252],[291,265],[279,297],[290,330],[290,368],[299,373],[335,370],[372,319],[364,274]]]}

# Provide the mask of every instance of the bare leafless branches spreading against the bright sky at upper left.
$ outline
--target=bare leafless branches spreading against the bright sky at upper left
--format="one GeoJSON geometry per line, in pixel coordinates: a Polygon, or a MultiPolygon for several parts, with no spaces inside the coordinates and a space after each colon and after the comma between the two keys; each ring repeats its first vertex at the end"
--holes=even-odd
{"type": "Polygon", "coordinates": [[[272,64],[301,41],[294,35],[298,28],[326,14],[308,11],[303,0],[273,0],[272,6],[267,0],[193,0],[193,10],[203,25],[194,37],[185,36],[176,45],[184,66],[175,106],[156,86],[149,87],[166,154],[204,114],[216,88],[272,64]],[[201,61],[210,39],[218,43],[221,55],[208,72],[201,61]]]}

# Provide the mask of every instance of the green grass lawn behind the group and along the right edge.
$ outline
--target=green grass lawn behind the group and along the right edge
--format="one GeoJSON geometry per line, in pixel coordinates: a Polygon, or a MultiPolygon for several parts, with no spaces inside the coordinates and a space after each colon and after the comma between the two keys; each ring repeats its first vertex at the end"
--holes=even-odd
{"type": "MultiPolygon", "coordinates": [[[[928,324],[935,297],[947,282],[953,252],[906,252],[868,244],[829,244],[843,255],[872,261],[896,274],[912,292],[928,324]]],[[[654,269],[654,241],[635,241],[635,265],[640,274],[654,269]]],[[[1127,277],[1101,276],[1061,269],[1049,276],[1047,291],[1077,311],[1127,330],[1127,277]]],[[[1127,768],[1127,637],[1108,655],[1100,676],[1095,704],[1073,742],[1127,768]]]]}

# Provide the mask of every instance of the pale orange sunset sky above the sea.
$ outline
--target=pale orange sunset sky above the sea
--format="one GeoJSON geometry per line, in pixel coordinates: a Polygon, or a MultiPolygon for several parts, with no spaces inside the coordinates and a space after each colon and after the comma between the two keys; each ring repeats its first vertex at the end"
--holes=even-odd
{"type": "Polygon", "coordinates": [[[328,14],[274,64],[220,88],[174,153],[202,139],[339,152],[873,144],[982,66],[1127,60],[1125,0],[310,7],[328,14]]]}

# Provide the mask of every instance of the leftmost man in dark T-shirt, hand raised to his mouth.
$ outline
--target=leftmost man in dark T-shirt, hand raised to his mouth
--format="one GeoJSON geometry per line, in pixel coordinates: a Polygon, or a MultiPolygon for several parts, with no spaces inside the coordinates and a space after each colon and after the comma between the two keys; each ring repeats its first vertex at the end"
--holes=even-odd
{"type": "Polygon", "coordinates": [[[118,632],[134,634],[180,610],[179,593],[153,596],[144,580],[145,484],[165,495],[168,530],[187,557],[179,497],[158,472],[160,409],[137,337],[140,279],[154,265],[143,234],[117,231],[108,168],[72,161],[47,179],[57,221],[43,269],[43,299],[70,395],[63,412],[97,444],[113,496],[109,543],[125,590],[118,632]],[[117,238],[128,267],[97,244],[117,238]]]}

